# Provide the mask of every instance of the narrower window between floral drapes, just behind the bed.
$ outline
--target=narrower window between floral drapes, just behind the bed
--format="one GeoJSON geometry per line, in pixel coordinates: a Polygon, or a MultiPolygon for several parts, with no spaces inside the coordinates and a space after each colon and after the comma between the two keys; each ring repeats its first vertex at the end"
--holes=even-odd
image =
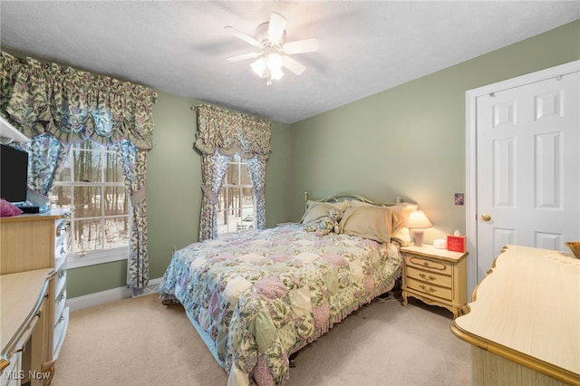
{"type": "Polygon", "coordinates": [[[229,159],[226,178],[219,190],[218,235],[254,228],[254,188],[246,160],[236,154],[229,159]]]}

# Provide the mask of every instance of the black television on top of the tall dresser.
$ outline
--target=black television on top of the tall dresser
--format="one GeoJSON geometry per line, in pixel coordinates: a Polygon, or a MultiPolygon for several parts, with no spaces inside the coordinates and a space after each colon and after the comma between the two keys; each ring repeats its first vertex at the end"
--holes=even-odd
{"type": "Polygon", "coordinates": [[[12,203],[26,201],[28,153],[0,145],[0,198],[12,203]]]}

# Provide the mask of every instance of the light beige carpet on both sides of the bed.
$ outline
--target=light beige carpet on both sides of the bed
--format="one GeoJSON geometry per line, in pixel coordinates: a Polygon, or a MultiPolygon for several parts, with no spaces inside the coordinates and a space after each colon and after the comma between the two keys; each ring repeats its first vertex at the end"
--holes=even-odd
{"type": "MultiPolygon", "coordinates": [[[[410,299],[379,298],[305,347],[285,386],[469,385],[470,346],[452,314],[410,299]]],[[[227,384],[179,305],[157,294],[71,313],[54,386],[227,384]]]]}

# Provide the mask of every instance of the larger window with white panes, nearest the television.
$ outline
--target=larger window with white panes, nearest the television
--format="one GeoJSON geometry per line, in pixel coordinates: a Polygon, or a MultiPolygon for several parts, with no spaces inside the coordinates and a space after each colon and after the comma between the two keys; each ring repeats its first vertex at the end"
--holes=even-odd
{"type": "Polygon", "coordinates": [[[70,267],[127,258],[131,203],[112,146],[92,140],[74,144],[54,182],[51,203],[73,208],[70,267]]]}

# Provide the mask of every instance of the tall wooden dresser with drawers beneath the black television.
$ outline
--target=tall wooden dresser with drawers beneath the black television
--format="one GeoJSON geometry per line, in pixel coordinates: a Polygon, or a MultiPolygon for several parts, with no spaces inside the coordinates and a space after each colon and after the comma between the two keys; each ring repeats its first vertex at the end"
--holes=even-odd
{"type": "Polygon", "coordinates": [[[52,328],[47,333],[48,360],[43,363],[43,372],[54,371],[54,362],[68,325],[66,258],[69,213],[56,209],[0,218],[0,275],[43,268],[55,271],[54,279],[48,285],[44,311],[52,328]]]}

